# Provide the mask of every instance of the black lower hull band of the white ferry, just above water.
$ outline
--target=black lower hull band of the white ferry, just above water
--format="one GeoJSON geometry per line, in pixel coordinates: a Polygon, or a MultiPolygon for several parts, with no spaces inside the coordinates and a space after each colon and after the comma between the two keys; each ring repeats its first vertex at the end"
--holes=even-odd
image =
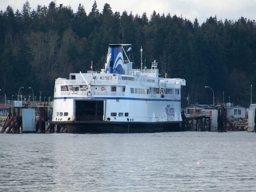
{"type": "Polygon", "coordinates": [[[181,131],[181,122],[109,122],[68,121],[51,122],[65,127],[68,133],[155,133],[181,131]]]}

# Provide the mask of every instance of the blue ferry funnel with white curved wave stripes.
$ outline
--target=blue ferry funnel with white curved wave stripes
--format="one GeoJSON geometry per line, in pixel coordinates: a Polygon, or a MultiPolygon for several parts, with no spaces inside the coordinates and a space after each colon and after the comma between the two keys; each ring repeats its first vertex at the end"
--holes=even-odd
{"type": "Polygon", "coordinates": [[[122,45],[109,45],[105,73],[125,74],[122,45]]]}

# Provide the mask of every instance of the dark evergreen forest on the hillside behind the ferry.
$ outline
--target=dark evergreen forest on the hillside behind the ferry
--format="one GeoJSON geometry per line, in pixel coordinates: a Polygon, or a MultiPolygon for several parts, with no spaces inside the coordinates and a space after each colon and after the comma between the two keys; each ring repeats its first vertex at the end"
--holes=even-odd
{"type": "Polygon", "coordinates": [[[91,61],[94,71],[104,68],[108,44],[120,43],[120,34],[123,44],[132,44],[133,68],[140,68],[142,46],[144,66],[151,68],[156,60],[160,77],[167,73],[167,78],[187,81],[181,91],[182,107],[188,105],[187,99],[189,104],[213,104],[213,91],[216,103],[248,106],[251,95],[256,102],[255,20],[210,16],[200,25],[197,18],[190,21],[156,11],[141,16],[120,13],[108,3],[100,11],[96,1],[91,10],[80,3],[74,11],[55,1],[33,10],[28,1],[21,10],[1,10],[1,102],[5,94],[17,100],[20,87],[27,99],[32,87],[36,101],[39,91],[48,101],[55,79],[86,72],[91,61]]]}

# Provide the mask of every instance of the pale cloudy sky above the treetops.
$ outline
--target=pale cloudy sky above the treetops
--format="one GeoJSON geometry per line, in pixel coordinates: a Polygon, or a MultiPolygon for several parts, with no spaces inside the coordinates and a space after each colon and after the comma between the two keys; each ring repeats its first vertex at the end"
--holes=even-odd
{"type": "MultiPolygon", "coordinates": [[[[23,4],[26,0],[0,0],[0,10],[5,11],[6,7],[10,5],[14,11],[22,10],[23,4]]],[[[48,6],[51,0],[29,0],[31,10],[36,9],[37,5],[48,6]]],[[[79,3],[84,5],[85,11],[89,14],[94,0],[57,0],[57,5],[62,3],[64,6],[69,4],[74,12],[77,11],[79,3]]],[[[148,18],[155,10],[160,15],[165,16],[170,14],[183,16],[192,22],[197,17],[199,24],[202,24],[210,16],[217,16],[217,19],[225,18],[238,20],[243,16],[247,19],[256,20],[256,0],[96,0],[98,9],[102,11],[104,4],[107,2],[112,11],[119,11],[121,14],[124,10],[128,13],[133,12],[133,15],[142,15],[144,11],[147,12],[148,18]]]]}

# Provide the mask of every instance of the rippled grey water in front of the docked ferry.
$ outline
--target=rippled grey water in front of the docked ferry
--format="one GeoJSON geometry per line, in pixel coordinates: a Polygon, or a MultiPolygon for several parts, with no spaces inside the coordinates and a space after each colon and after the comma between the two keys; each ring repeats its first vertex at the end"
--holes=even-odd
{"type": "Polygon", "coordinates": [[[0,191],[256,191],[255,154],[247,132],[0,134],[0,191]]]}

